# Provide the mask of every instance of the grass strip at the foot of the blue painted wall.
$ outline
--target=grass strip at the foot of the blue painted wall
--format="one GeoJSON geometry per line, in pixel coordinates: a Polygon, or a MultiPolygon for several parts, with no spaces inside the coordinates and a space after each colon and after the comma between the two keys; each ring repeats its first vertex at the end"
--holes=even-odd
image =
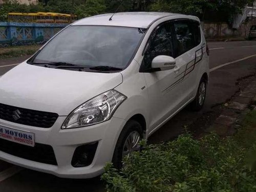
{"type": "Polygon", "coordinates": [[[0,49],[0,59],[33,55],[41,45],[14,46],[0,49]]]}

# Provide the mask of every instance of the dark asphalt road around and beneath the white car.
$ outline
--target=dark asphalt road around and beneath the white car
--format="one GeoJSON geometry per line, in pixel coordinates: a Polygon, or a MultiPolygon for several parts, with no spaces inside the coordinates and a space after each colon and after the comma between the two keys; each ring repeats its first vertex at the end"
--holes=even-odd
{"type": "MultiPolygon", "coordinates": [[[[183,125],[193,123],[205,112],[211,111],[212,106],[225,102],[236,93],[239,89],[236,85],[238,78],[248,76],[256,71],[256,55],[254,56],[256,41],[209,42],[208,45],[212,71],[204,109],[198,113],[184,109],[150,137],[151,143],[159,143],[177,137],[182,132],[183,125]],[[216,68],[218,66],[221,68],[216,68]]],[[[15,67],[7,65],[24,59],[25,57],[0,60],[0,75],[15,67]]],[[[0,191],[104,191],[103,183],[99,178],[90,180],[60,179],[28,169],[1,181],[4,174],[15,173],[15,169],[10,169],[10,167],[12,168],[12,165],[0,161],[0,191]],[[11,171],[8,172],[8,170],[11,171]]]]}

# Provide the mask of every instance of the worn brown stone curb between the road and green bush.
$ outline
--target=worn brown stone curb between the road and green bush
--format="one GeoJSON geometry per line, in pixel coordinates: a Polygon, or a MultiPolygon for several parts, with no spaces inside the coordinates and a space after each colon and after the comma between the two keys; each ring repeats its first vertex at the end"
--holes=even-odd
{"type": "Polygon", "coordinates": [[[242,126],[244,116],[256,110],[256,76],[229,102],[223,105],[221,115],[208,127],[205,133],[216,133],[219,136],[232,136],[242,126]]]}

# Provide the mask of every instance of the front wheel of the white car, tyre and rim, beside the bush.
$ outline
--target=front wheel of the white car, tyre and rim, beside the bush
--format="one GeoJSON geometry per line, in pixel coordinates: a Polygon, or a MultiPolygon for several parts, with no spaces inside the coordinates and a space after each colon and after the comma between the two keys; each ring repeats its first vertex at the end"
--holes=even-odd
{"type": "Polygon", "coordinates": [[[118,140],[115,147],[112,162],[118,169],[122,168],[122,159],[129,156],[134,151],[140,150],[139,142],[143,138],[142,126],[135,120],[128,121],[118,140]]]}

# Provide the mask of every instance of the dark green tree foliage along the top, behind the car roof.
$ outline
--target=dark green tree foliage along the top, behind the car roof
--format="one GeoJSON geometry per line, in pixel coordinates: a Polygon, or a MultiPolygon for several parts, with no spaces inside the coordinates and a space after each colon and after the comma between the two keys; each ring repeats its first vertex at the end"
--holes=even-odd
{"type": "Polygon", "coordinates": [[[202,20],[232,21],[254,0],[39,0],[38,5],[20,5],[10,0],[0,6],[0,19],[8,12],[59,12],[77,14],[79,18],[125,11],[162,11],[196,15],[202,20]],[[12,3],[11,3],[12,2],[12,3]]]}

